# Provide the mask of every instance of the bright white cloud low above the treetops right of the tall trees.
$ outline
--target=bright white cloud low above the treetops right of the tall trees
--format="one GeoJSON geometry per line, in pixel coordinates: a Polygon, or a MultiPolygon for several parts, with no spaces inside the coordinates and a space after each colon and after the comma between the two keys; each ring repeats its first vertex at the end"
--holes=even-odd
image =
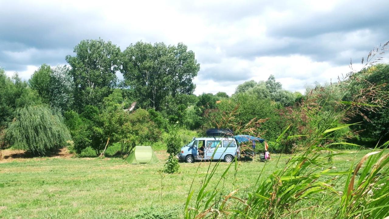
{"type": "MultiPolygon", "coordinates": [[[[195,83],[198,86],[196,87],[195,94],[222,91],[231,95],[235,92],[237,85],[243,81],[266,80],[270,74],[275,76],[276,81],[282,83],[284,89],[304,93],[306,85],[313,85],[316,81],[319,83],[329,82],[330,80],[337,81],[339,75],[351,71],[348,65],[334,66],[329,62],[316,62],[309,57],[301,55],[258,57],[252,61],[227,59],[223,60],[222,63],[223,65],[230,63],[226,66],[226,69],[230,69],[230,65],[235,65],[237,69],[245,69],[246,72],[242,76],[244,80],[236,79],[226,83],[223,78],[219,80],[215,78],[214,81],[196,78],[195,83]],[[241,64],[239,65],[239,63],[241,64]]],[[[360,69],[362,65],[353,64],[353,67],[354,69],[360,69]]],[[[204,71],[207,72],[207,69],[204,71]]],[[[240,75],[235,76],[236,78],[240,77],[240,75]]],[[[340,78],[342,77],[340,76],[340,78]]]]}

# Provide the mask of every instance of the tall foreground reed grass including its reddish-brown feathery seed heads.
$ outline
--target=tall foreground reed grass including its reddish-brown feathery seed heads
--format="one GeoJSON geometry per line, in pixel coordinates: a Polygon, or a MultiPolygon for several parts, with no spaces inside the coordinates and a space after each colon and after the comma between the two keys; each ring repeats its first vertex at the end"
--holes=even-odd
{"type": "MultiPolygon", "coordinates": [[[[367,60],[374,60],[375,55],[382,54],[388,44],[389,42],[373,49],[367,60]]],[[[336,99],[331,92],[320,92],[321,88],[315,88],[307,95],[298,109],[301,116],[308,117],[307,124],[314,124],[310,126],[310,132],[286,136],[286,133],[292,133],[289,126],[276,141],[280,144],[283,139],[305,138],[300,141],[300,150],[289,157],[286,163],[279,162],[282,154],[274,161],[266,162],[251,190],[240,191],[238,187],[234,187],[229,192],[225,191],[223,182],[228,172],[233,168],[236,176],[238,171],[237,159],[220,176],[216,175],[216,170],[221,168],[220,161],[209,162],[207,175],[203,178],[199,191],[193,189],[197,176],[193,178],[184,207],[184,217],[388,219],[389,153],[386,148],[389,141],[377,144],[361,160],[350,161],[350,167],[346,171],[335,167],[338,162],[336,157],[350,152],[335,150],[333,147],[351,143],[334,133],[350,125],[357,125],[347,124],[347,121],[353,115],[361,113],[361,108],[375,110],[382,107],[380,104],[385,102],[382,99],[388,98],[387,91],[380,90],[375,85],[367,89],[371,92],[365,92],[366,88],[363,88],[359,93],[350,94],[347,88],[355,87],[356,83],[359,83],[359,79],[356,72],[351,71],[343,81],[331,85],[343,91],[336,99]],[[268,165],[276,165],[278,169],[263,177],[268,165]]],[[[258,136],[255,127],[261,125],[263,120],[254,118],[246,125],[231,122],[238,107],[224,114],[221,126],[258,136]]]]}

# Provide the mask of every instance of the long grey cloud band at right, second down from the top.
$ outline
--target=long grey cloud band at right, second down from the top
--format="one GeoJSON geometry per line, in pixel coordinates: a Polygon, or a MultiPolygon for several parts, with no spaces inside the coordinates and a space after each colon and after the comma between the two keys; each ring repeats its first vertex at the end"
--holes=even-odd
{"type": "Polygon", "coordinates": [[[349,64],[350,58],[359,62],[366,57],[375,44],[387,42],[389,26],[380,30],[369,30],[361,34],[361,39],[350,40],[345,35],[352,32],[336,32],[309,38],[282,37],[275,44],[266,42],[241,41],[226,47],[228,56],[254,59],[261,56],[305,55],[314,61],[330,62],[335,65],[349,64]]]}

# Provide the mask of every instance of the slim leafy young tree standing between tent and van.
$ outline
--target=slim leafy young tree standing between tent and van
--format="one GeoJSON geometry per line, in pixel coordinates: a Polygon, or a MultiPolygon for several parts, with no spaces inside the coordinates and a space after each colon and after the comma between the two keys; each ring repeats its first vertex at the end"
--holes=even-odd
{"type": "Polygon", "coordinates": [[[179,169],[178,159],[176,155],[180,152],[181,148],[181,138],[177,133],[177,128],[172,127],[172,130],[170,131],[168,140],[166,142],[166,147],[169,157],[168,160],[165,163],[165,173],[175,173],[179,169]]]}

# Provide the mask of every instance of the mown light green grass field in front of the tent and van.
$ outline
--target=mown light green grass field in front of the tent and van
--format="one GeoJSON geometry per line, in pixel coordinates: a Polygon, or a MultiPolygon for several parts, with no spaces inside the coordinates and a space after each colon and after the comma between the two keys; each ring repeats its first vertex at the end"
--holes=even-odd
{"type": "MultiPolygon", "coordinates": [[[[180,216],[197,166],[200,165],[194,181],[196,188],[200,187],[209,162],[180,163],[179,173],[165,175],[159,171],[167,155],[161,151],[156,153],[161,162],[141,165],[126,164],[120,158],[3,159],[0,161],[0,218],[180,216]]],[[[360,159],[366,153],[367,150],[340,155],[335,158],[335,166],[347,170],[354,157],[360,159]]],[[[282,155],[280,163],[285,163],[288,156],[282,155]]],[[[278,157],[272,156],[261,177],[276,170],[278,157]]],[[[236,184],[240,193],[255,184],[263,165],[263,162],[239,162],[236,184]]],[[[220,176],[227,166],[221,163],[217,174],[220,176]]],[[[227,194],[233,190],[233,173],[231,168],[223,182],[227,194]]]]}

